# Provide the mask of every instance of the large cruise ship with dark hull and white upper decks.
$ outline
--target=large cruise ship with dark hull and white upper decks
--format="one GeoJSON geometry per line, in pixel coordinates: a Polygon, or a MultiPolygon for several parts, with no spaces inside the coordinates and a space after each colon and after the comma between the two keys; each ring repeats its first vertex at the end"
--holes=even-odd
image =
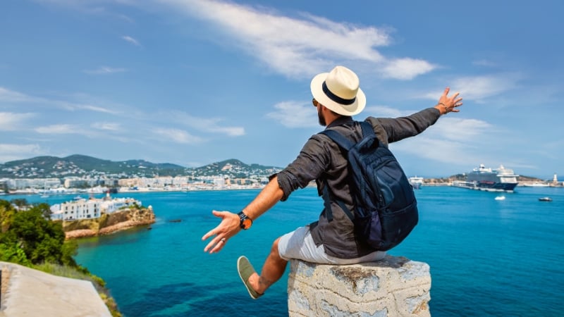
{"type": "Polygon", "coordinates": [[[469,189],[485,190],[488,192],[513,192],[517,186],[517,176],[513,170],[504,168],[486,168],[484,164],[468,173],[465,182],[455,181],[453,186],[469,189]]]}

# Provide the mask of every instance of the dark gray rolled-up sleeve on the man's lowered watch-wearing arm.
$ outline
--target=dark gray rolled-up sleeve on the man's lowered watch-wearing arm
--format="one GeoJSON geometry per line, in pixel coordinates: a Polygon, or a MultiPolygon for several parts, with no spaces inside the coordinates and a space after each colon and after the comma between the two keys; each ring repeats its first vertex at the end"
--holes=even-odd
{"type": "Polygon", "coordinates": [[[316,180],[329,164],[329,151],[323,137],[310,137],[300,151],[298,157],[278,173],[278,186],[284,195],[281,201],[288,199],[298,188],[304,188],[309,182],[316,180]]]}

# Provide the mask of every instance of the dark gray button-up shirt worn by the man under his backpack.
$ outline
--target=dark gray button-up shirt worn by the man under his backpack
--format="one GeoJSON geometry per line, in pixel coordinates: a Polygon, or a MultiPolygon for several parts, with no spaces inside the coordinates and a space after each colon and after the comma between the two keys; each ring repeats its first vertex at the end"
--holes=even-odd
{"type": "MultiPolygon", "coordinates": [[[[380,142],[387,146],[391,142],[418,135],[436,123],[440,116],[441,113],[436,108],[427,108],[407,117],[369,117],[366,121],[372,124],[380,142]]],[[[327,129],[338,130],[355,143],[362,137],[360,125],[351,117],[338,118],[327,129]]],[[[317,181],[317,189],[321,194],[326,181],[333,196],[353,211],[354,204],[347,179],[347,160],[341,149],[326,135],[317,134],[307,140],[295,161],[278,173],[278,186],[284,192],[282,201],[285,201],[291,192],[306,187],[312,180],[317,181]]],[[[319,220],[310,225],[317,246],[323,244],[326,254],[341,259],[354,259],[374,251],[356,239],[353,223],[338,204],[333,202],[331,211],[332,221],[328,221],[325,214],[321,213],[319,220]]]]}

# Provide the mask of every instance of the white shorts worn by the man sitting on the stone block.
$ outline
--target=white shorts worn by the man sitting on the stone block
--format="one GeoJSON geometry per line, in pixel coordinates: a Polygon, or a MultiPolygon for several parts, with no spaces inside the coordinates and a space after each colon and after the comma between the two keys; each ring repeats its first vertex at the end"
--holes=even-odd
{"type": "Polygon", "coordinates": [[[308,225],[280,237],[278,241],[278,254],[286,261],[300,259],[312,263],[347,265],[379,261],[384,259],[386,251],[374,251],[356,259],[339,259],[325,254],[323,244],[319,245],[319,247],[315,245],[308,225]]]}

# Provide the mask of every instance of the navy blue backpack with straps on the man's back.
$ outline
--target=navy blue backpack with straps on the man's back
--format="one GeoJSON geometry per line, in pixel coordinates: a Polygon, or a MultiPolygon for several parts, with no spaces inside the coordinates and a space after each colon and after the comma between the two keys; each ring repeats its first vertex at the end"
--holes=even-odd
{"type": "MultiPolygon", "coordinates": [[[[333,199],[353,221],[360,240],[376,250],[386,251],[402,242],[419,219],[415,193],[400,163],[380,144],[372,125],[360,122],[362,139],[354,144],[336,130],[321,133],[346,152],[354,214],[343,201],[333,199]]],[[[326,217],[331,220],[331,194],[325,184],[326,217]]]]}

